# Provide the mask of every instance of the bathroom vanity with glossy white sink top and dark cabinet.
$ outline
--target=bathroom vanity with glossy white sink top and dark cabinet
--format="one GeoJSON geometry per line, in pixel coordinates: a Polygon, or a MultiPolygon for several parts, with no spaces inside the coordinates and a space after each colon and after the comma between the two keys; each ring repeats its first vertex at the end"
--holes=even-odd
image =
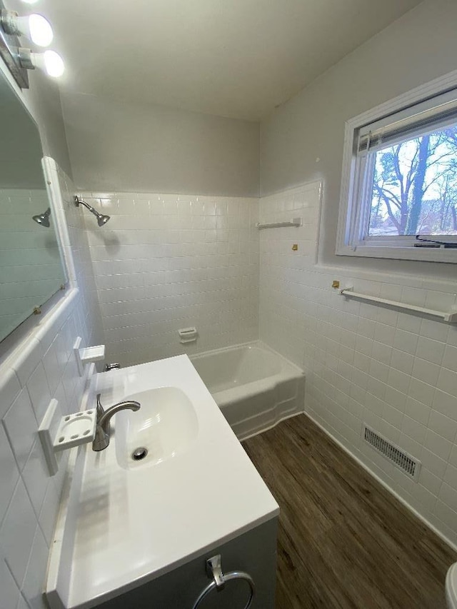
{"type": "Polygon", "coordinates": [[[103,451],[73,449],[51,609],[192,609],[211,583],[199,608],[243,609],[247,580],[216,588],[206,565],[214,555],[223,574],[251,576],[251,608],[273,609],[278,505],[189,358],[94,375],[82,408],[98,393],[105,407],[141,408],[114,416],[103,451]]]}

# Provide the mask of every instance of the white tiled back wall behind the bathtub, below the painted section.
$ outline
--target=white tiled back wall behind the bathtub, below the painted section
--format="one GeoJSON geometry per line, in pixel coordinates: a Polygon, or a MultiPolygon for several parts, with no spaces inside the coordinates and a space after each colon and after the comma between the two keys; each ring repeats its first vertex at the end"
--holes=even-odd
{"type": "Polygon", "coordinates": [[[258,336],[257,198],[81,193],[107,357],[132,365],[258,336]],[[197,343],[179,342],[196,326],[197,343]]]}

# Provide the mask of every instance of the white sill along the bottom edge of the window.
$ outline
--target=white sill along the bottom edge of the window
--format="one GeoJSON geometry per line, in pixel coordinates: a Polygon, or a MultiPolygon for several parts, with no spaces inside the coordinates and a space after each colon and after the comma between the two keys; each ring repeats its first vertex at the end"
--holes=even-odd
{"type": "Polygon", "coordinates": [[[336,256],[361,256],[363,258],[457,263],[457,249],[341,246],[336,249],[336,256]]]}

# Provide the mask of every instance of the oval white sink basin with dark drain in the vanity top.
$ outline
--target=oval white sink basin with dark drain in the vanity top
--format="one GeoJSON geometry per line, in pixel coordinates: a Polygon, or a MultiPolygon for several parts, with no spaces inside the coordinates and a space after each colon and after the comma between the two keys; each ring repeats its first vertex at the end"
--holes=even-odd
{"type": "Polygon", "coordinates": [[[196,441],[199,421],[189,398],[176,387],[134,393],[137,412],[116,415],[116,458],[126,469],[157,465],[186,453],[196,441]]]}

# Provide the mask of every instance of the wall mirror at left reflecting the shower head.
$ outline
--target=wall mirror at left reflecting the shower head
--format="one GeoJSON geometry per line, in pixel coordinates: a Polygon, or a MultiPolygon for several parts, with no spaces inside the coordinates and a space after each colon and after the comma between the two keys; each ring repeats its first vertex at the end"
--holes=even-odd
{"type": "Polygon", "coordinates": [[[59,291],[66,275],[41,168],[39,131],[1,72],[0,129],[2,341],[59,291]],[[41,223],[33,216],[41,216],[41,223]]]}

